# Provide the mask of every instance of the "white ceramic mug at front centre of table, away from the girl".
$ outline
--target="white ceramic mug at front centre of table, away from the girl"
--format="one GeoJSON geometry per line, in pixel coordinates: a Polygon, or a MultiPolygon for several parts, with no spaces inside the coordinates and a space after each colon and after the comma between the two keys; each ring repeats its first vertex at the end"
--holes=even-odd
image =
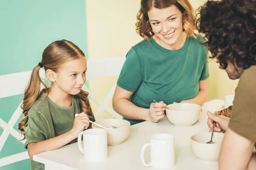
{"type": "Polygon", "coordinates": [[[156,134],[151,136],[150,143],[144,144],[140,151],[140,159],[147,167],[172,168],[175,165],[175,139],[171,134],[156,134]],[[145,148],[150,148],[151,162],[145,163],[145,148]]]}

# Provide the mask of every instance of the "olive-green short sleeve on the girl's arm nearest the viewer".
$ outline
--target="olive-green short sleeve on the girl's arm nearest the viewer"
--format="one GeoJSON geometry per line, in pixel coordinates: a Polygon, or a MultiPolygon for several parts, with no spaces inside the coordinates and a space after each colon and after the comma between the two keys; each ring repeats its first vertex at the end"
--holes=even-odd
{"type": "Polygon", "coordinates": [[[26,127],[26,143],[25,148],[29,143],[36,143],[50,137],[50,127],[47,119],[38,111],[29,111],[28,126],[26,127]]]}

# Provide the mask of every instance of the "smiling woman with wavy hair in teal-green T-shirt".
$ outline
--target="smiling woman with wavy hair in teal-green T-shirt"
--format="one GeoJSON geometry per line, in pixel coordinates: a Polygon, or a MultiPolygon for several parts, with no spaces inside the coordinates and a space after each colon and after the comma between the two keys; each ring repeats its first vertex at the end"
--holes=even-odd
{"type": "Polygon", "coordinates": [[[189,0],[141,0],[136,31],[144,40],[126,55],[113,109],[134,125],[158,122],[173,102],[202,105],[209,91],[208,51],[194,34],[189,0]]]}

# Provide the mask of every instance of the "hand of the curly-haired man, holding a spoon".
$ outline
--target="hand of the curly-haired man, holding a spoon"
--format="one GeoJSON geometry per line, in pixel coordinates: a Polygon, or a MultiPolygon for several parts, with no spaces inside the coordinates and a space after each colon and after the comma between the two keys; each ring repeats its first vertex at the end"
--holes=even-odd
{"type": "Polygon", "coordinates": [[[209,132],[212,132],[213,127],[213,121],[216,122],[216,125],[214,127],[215,132],[222,132],[225,133],[228,127],[228,123],[230,121],[229,117],[223,116],[223,115],[214,115],[210,111],[207,111],[207,125],[209,127],[209,132]]]}

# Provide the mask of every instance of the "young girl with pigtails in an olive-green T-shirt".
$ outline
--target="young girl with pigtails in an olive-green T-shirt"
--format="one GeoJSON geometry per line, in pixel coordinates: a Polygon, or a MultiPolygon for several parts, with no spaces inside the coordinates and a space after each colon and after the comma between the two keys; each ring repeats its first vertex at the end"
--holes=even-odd
{"type": "Polygon", "coordinates": [[[83,51],[67,40],[48,45],[41,62],[33,69],[21,105],[25,118],[19,123],[27,140],[24,147],[32,159],[32,170],[44,170],[44,164],[33,161],[35,154],[77,142],[78,134],[90,128],[89,119],[95,121],[88,93],[81,90],[86,70],[83,51]],[[43,67],[51,81],[50,88],[39,76],[43,67]],[[75,117],[76,113],[79,115],[75,117]]]}

